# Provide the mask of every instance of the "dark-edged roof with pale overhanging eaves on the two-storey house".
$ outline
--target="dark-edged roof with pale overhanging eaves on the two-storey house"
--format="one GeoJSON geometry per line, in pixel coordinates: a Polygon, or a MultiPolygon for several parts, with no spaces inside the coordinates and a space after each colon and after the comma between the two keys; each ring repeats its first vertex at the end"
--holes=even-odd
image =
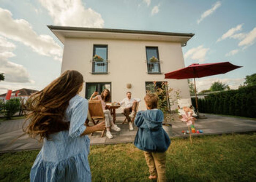
{"type": "Polygon", "coordinates": [[[107,28],[63,27],[47,25],[55,36],[64,44],[65,38],[97,38],[97,39],[126,39],[180,42],[186,46],[193,33],[157,32],[107,28]]]}

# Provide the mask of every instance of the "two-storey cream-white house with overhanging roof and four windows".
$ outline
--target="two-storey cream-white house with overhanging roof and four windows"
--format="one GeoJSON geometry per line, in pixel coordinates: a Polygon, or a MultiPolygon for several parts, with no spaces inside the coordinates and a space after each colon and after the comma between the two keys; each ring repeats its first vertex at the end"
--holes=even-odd
{"type": "Polygon", "coordinates": [[[81,96],[90,98],[94,90],[101,93],[108,88],[111,102],[118,102],[130,91],[132,97],[142,99],[139,110],[144,110],[146,89],[157,81],[167,82],[169,88],[181,90],[182,98],[190,98],[186,79],[164,79],[164,73],[185,67],[182,46],[194,34],[48,27],[64,44],[61,72],[77,70],[83,74],[85,87],[81,96]],[[95,55],[101,59],[93,59],[95,55]],[[151,62],[153,56],[157,60],[151,62]]]}

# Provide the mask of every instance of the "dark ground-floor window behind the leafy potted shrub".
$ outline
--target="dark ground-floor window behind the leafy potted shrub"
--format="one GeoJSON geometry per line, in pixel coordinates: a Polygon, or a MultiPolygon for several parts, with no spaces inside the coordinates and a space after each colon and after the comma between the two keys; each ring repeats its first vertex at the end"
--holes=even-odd
{"type": "Polygon", "coordinates": [[[166,111],[170,111],[170,103],[169,103],[169,94],[167,81],[146,81],[146,93],[156,93],[158,88],[161,88],[163,92],[158,94],[160,102],[158,102],[158,107],[165,108],[166,111]]]}

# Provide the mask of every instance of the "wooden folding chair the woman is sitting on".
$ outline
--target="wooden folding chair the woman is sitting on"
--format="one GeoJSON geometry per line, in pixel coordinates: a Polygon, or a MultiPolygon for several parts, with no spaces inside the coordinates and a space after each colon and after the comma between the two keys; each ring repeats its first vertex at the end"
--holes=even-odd
{"type": "MultiPolygon", "coordinates": [[[[100,120],[102,120],[103,122],[105,122],[105,115],[103,113],[102,110],[102,106],[101,106],[101,101],[89,101],[89,115],[90,118],[88,117],[87,119],[91,119],[91,122],[93,122],[94,125],[98,124],[98,122],[100,120]]],[[[86,122],[86,125],[88,125],[88,120],[86,122]]],[[[104,133],[106,131],[106,128],[103,131],[96,131],[97,133],[101,133],[101,137],[104,136],[104,133]]],[[[91,136],[93,135],[93,133],[91,133],[91,136]]]]}

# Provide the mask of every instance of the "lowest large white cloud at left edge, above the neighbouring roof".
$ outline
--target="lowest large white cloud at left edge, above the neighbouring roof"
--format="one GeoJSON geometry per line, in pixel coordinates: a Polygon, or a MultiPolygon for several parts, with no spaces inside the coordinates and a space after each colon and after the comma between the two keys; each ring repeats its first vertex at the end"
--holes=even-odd
{"type": "MultiPolygon", "coordinates": [[[[21,64],[10,62],[8,59],[15,57],[11,51],[15,45],[0,36],[0,73],[5,73],[4,82],[31,83],[27,69],[21,64]]],[[[2,84],[2,81],[1,81],[2,84]]]]}

